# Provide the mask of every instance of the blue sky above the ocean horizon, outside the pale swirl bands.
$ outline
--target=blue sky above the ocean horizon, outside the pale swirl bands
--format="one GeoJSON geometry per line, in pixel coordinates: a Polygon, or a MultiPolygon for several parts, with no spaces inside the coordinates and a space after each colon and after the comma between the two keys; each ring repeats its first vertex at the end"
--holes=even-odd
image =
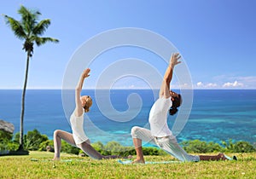
{"type": "MultiPolygon", "coordinates": [[[[0,4],[1,14],[17,20],[20,20],[17,9],[21,4],[28,9],[38,9],[42,13],[40,20],[51,20],[44,36],[60,40],[57,44],[35,47],[28,89],[61,89],[63,76],[76,50],[97,34],[121,27],[147,29],[172,42],[189,67],[195,89],[256,89],[254,0],[12,0],[0,4]]],[[[22,43],[5,25],[2,16],[0,89],[22,89],[26,66],[22,43]]],[[[98,58],[89,66],[88,88],[94,88],[96,76],[115,61],[132,57],[152,64],[158,58],[132,47],[116,48],[105,55],[108,60],[98,58]]],[[[155,68],[163,75],[166,64],[155,68]]],[[[178,85],[173,82],[173,86],[178,88],[178,85]]],[[[140,78],[127,77],[119,79],[114,87],[148,88],[148,84],[140,78]]]]}

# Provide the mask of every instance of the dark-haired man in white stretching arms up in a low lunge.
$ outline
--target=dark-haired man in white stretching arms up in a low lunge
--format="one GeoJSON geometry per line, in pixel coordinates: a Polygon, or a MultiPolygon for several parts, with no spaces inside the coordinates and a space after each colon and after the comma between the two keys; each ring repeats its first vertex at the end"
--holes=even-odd
{"type": "Polygon", "coordinates": [[[174,66],[181,62],[178,61],[180,57],[178,53],[172,54],[160,87],[159,99],[154,102],[149,113],[148,122],[150,124],[150,130],[137,126],[131,129],[133,144],[137,152],[137,159],[135,159],[133,163],[145,163],[142,141],[148,141],[160,147],[166,151],[166,153],[172,154],[172,156],[181,161],[226,159],[223,153],[218,153],[218,155],[213,156],[189,155],[178,145],[176,137],[172,135],[172,131],[168,128],[167,113],[169,112],[170,115],[174,115],[177,113],[177,107],[182,103],[181,95],[170,90],[172,72],[174,66]]]}

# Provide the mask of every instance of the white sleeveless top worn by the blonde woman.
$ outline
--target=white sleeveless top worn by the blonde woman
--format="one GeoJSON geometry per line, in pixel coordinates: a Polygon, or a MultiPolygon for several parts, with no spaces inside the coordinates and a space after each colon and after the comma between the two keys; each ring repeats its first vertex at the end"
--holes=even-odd
{"type": "Polygon", "coordinates": [[[70,116],[70,123],[73,131],[73,139],[76,144],[81,144],[89,139],[88,136],[84,134],[84,110],[83,114],[79,117],[73,112],[70,116]]]}

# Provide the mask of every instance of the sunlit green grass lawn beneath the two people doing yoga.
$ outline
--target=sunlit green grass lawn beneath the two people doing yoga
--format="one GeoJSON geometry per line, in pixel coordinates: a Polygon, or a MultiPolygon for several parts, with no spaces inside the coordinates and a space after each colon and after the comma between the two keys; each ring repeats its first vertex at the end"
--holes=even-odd
{"type": "MultiPolygon", "coordinates": [[[[62,161],[51,161],[54,153],[30,152],[0,157],[0,178],[255,178],[256,153],[235,154],[237,161],[120,165],[116,159],[93,160],[66,153],[61,153],[62,161]]],[[[145,159],[175,160],[168,155],[145,159]]]]}

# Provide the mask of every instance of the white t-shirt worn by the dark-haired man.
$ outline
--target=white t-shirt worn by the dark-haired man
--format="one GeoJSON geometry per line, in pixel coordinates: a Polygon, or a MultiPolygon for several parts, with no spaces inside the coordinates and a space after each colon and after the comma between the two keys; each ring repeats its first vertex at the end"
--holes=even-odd
{"type": "Polygon", "coordinates": [[[167,113],[170,107],[172,107],[171,96],[169,98],[162,96],[154,102],[148,118],[152,136],[172,136],[172,131],[167,124],[167,113]]]}

